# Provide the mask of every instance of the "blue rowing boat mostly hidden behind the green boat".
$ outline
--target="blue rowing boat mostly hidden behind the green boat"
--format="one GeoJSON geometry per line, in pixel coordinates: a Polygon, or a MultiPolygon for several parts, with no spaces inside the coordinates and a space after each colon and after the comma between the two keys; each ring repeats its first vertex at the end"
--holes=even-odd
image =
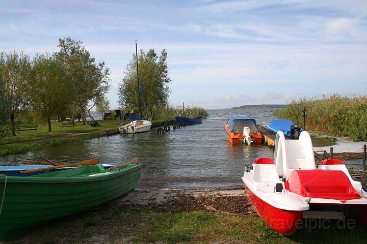
{"type": "MultiPolygon", "coordinates": [[[[101,164],[104,169],[109,169],[112,167],[112,164],[101,164]]],[[[32,176],[37,174],[43,174],[45,171],[37,171],[32,173],[21,174],[20,171],[28,170],[28,169],[41,169],[41,168],[49,168],[54,165],[9,165],[9,166],[0,166],[0,174],[5,174],[7,176],[32,176]]],[[[64,167],[57,169],[50,169],[48,172],[55,172],[59,170],[71,169],[75,167],[64,167]]]]}

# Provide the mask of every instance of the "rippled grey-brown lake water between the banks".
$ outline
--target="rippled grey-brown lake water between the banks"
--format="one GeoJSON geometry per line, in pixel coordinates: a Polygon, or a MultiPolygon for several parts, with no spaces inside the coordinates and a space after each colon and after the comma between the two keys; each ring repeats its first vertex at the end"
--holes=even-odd
{"type": "MultiPolygon", "coordinates": [[[[3,157],[5,165],[17,158],[73,163],[99,158],[101,163],[120,164],[139,157],[143,165],[138,188],[234,188],[241,187],[245,165],[258,157],[273,157],[273,150],[264,145],[236,145],[227,141],[223,129],[226,119],[243,114],[268,125],[276,107],[247,107],[209,110],[201,125],[181,127],[176,131],[114,135],[61,146],[44,147],[23,155],[3,157]]],[[[172,129],[172,127],[171,127],[172,129]]]]}

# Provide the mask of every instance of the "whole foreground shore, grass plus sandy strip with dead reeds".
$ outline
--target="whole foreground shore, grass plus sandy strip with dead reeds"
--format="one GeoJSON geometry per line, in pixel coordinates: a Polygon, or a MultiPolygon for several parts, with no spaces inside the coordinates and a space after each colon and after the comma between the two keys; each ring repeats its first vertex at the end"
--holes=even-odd
{"type": "MultiPolygon", "coordinates": [[[[143,190],[34,226],[4,243],[365,243],[367,233],[306,226],[281,236],[256,214],[244,188],[143,190]]],[[[0,242],[2,243],[2,242],[0,242]]]]}

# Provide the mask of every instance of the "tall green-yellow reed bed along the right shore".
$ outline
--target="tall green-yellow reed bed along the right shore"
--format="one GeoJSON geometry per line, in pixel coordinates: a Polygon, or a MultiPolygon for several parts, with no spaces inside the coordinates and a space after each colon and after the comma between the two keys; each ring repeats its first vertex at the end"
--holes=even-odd
{"type": "Polygon", "coordinates": [[[302,99],[274,112],[279,118],[302,126],[301,110],[307,110],[306,130],[332,136],[347,136],[354,141],[367,140],[367,96],[333,95],[323,99],[302,99]]]}

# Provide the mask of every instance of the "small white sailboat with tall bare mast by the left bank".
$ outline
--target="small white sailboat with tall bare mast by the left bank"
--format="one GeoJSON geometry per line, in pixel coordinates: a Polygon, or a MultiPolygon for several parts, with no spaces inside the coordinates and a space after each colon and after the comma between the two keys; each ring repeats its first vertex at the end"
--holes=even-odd
{"type": "MultiPolygon", "coordinates": [[[[148,118],[146,103],[145,103],[145,97],[143,93],[143,85],[140,84],[139,81],[139,66],[138,66],[138,44],[135,43],[135,50],[136,50],[136,59],[137,59],[137,76],[138,76],[138,95],[139,95],[139,112],[141,110],[140,108],[140,94],[142,95],[143,99],[143,105],[144,105],[144,111],[145,111],[145,117],[148,118]]],[[[152,123],[150,119],[148,120],[133,120],[127,125],[123,125],[119,128],[119,131],[121,134],[133,134],[133,133],[141,133],[141,132],[147,132],[150,130],[152,126],[152,123]]]]}

